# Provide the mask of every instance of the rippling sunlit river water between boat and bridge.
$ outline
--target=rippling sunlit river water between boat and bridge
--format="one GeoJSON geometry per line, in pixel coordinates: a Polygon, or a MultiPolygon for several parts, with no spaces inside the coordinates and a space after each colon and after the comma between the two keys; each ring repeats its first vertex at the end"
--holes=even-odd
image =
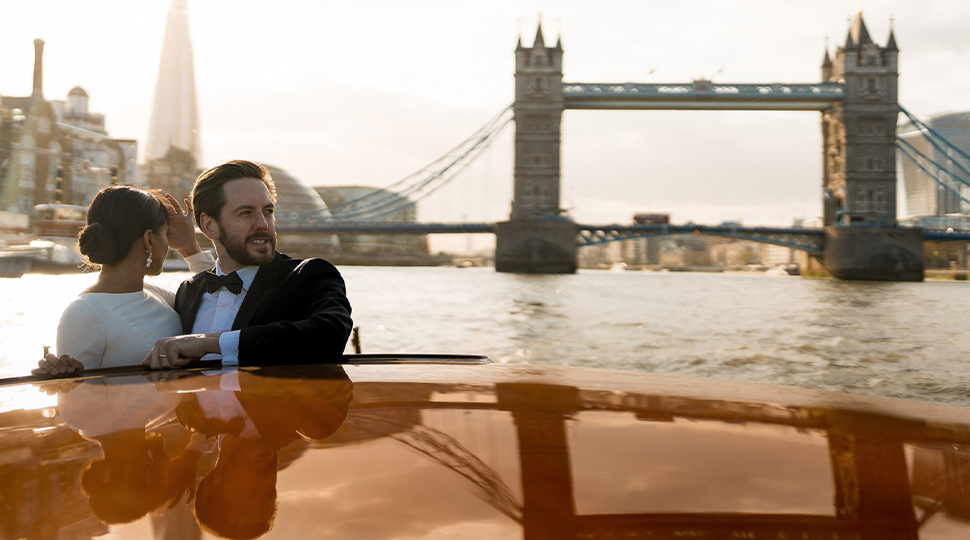
{"type": "MultiPolygon", "coordinates": [[[[744,380],[970,406],[970,283],[344,267],[364,352],[744,380]]],[[[155,278],[177,287],[188,274],[155,278]]],[[[53,344],[94,274],[0,279],[0,377],[53,344]]]]}

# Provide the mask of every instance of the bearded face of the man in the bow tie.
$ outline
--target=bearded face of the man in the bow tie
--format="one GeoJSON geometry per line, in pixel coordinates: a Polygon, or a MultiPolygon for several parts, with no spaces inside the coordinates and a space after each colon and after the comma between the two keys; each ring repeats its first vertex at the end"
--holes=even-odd
{"type": "Polygon", "coordinates": [[[218,235],[210,237],[222,245],[220,266],[231,272],[243,266],[265,266],[276,256],[276,218],[273,197],[261,180],[240,178],[222,186],[226,205],[216,221],[218,235]],[[231,261],[222,261],[228,256],[231,261]],[[235,268],[230,268],[235,262],[235,268]]]}

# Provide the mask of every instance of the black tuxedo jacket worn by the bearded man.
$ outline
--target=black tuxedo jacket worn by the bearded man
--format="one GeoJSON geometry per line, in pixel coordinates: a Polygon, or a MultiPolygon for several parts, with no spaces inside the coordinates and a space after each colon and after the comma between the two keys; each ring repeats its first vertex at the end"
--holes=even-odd
{"type": "MultiPolygon", "coordinates": [[[[197,274],[175,294],[182,331],[192,333],[205,292],[197,274]]],[[[239,365],[338,361],[353,321],[340,272],[323,259],[291,259],[280,253],[263,266],[233,321],[240,330],[239,365]]]]}

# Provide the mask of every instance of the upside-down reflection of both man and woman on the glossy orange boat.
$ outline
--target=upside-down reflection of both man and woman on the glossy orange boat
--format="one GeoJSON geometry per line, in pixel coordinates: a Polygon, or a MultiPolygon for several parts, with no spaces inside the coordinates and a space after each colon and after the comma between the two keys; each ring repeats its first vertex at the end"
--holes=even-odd
{"type": "Polygon", "coordinates": [[[64,421],[104,453],[81,475],[95,515],[127,523],[185,497],[211,533],[254,538],[268,531],[277,472],[287,465],[280,451],[336,431],[353,384],[336,366],[308,367],[285,384],[266,369],[195,374],[156,387],[92,379],[60,393],[64,421]]]}

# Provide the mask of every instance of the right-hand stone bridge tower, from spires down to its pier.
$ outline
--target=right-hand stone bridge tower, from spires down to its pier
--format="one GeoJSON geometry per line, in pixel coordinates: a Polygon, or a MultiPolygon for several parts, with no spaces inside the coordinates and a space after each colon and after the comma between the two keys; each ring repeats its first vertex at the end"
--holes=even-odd
{"type": "Polygon", "coordinates": [[[873,42],[856,14],[823,82],[845,97],[822,113],[825,266],[843,279],[922,280],[922,236],[896,226],[899,49],[873,42]]]}

